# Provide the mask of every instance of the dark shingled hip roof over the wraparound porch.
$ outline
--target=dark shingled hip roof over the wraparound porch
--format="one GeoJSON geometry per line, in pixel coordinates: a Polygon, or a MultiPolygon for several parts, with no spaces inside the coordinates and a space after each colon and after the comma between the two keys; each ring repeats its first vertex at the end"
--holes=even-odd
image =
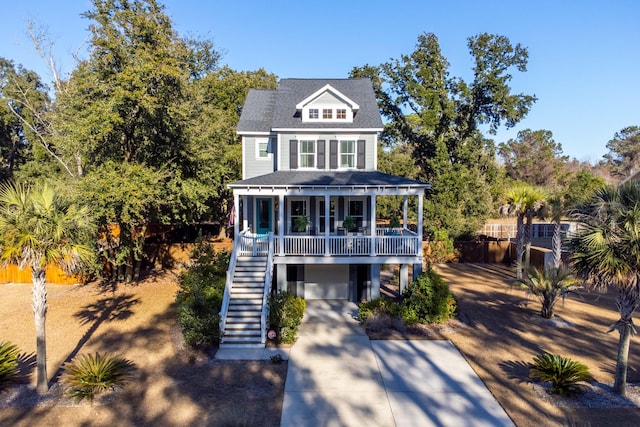
{"type": "Polygon", "coordinates": [[[424,182],[378,171],[276,171],[266,175],[236,181],[240,187],[422,187],[424,182]]]}

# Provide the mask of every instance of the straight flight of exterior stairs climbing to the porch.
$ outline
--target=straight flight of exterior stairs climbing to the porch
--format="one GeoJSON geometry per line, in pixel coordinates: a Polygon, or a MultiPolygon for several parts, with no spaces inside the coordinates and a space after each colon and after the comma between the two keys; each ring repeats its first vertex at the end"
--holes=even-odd
{"type": "Polygon", "coordinates": [[[267,256],[237,258],[221,348],[264,347],[260,323],[267,262],[267,256]]]}

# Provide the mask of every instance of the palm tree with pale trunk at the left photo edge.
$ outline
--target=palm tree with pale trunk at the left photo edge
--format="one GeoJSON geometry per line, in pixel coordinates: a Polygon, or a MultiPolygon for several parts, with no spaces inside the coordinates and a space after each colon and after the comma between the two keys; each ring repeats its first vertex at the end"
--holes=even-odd
{"type": "Polygon", "coordinates": [[[37,389],[49,389],[46,365],[46,267],[73,273],[93,256],[86,244],[93,224],[86,207],[65,203],[47,185],[0,187],[0,260],[31,268],[36,326],[37,389]]]}

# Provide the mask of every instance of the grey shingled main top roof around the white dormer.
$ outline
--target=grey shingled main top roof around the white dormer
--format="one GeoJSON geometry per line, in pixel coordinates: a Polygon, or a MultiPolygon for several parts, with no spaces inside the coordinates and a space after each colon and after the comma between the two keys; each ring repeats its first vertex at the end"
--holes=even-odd
{"type": "Polygon", "coordinates": [[[250,89],[240,115],[237,131],[268,133],[274,129],[372,129],[382,130],[370,79],[282,79],[276,90],[250,89]],[[296,106],[330,85],[359,107],[351,123],[303,123],[296,106]]]}

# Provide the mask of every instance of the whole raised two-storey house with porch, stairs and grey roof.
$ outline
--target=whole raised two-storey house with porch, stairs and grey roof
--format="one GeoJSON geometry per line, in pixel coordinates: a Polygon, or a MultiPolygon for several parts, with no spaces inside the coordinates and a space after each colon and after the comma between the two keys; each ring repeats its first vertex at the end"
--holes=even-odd
{"type": "Polygon", "coordinates": [[[221,312],[221,345],[264,345],[270,289],[306,299],[380,295],[383,264],[401,287],[422,269],[429,185],[377,171],[383,129],[369,79],[283,79],[251,90],[237,132],[242,180],[233,190],[234,248],[221,312]],[[399,227],[378,226],[376,200],[395,196],[399,227]]]}

